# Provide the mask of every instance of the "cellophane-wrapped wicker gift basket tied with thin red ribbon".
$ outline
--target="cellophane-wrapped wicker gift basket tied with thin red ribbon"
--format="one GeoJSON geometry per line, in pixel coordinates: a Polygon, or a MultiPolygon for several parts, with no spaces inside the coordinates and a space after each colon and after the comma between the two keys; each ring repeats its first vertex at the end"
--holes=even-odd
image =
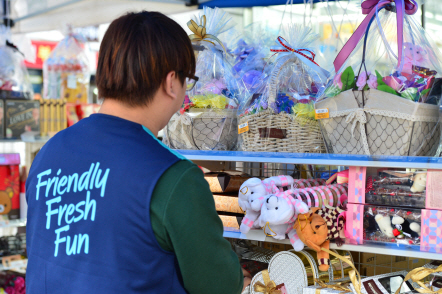
{"type": "Polygon", "coordinates": [[[276,60],[254,84],[239,109],[241,149],[267,152],[325,152],[313,103],[328,72],[315,61],[310,28],[290,25],[272,47],[276,60]]]}

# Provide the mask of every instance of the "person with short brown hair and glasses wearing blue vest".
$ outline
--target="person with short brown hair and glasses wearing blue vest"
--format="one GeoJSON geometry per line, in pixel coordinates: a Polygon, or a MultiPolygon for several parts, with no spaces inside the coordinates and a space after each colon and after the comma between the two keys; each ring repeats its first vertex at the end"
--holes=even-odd
{"type": "Polygon", "coordinates": [[[28,293],[230,294],[250,283],[202,172],[156,139],[194,73],[173,20],[143,11],[112,22],[100,112],[54,136],[30,170],[28,293]]]}

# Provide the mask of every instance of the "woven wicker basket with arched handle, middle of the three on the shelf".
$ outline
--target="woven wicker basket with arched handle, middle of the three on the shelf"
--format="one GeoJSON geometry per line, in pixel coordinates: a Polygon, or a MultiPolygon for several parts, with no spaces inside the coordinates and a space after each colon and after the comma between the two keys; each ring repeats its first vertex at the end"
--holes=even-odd
{"type": "MultiPolygon", "coordinates": [[[[276,100],[282,69],[293,63],[298,65],[299,71],[303,71],[299,59],[295,56],[284,56],[276,62],[268,84],[269,105],[276,100]]],[[[249,131],[240,135],[244,151],[325,153],[321,130],[316,120],[294,118],[285,112],[276,114],[269,108],[242,117],[240,124],[244,123],[248,123],[249,126],[249,131]]]]}

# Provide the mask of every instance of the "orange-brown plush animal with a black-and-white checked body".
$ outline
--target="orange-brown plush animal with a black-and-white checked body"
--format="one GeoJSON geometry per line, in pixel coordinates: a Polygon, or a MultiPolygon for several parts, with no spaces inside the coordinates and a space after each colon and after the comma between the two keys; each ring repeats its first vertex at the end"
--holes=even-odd
{"type": "Polygon", "coordinates": [[[338,246],[342,245],[344,220],[339,216],[343,212],[339,207],[328,205],[314,207],[310,212],[299,215],[293,226],[299,239],[316,251],[321,271],[327,271],[330,267],[330,256],[321,248],[329,249],[330,240],[336,240],[338,246]]]}

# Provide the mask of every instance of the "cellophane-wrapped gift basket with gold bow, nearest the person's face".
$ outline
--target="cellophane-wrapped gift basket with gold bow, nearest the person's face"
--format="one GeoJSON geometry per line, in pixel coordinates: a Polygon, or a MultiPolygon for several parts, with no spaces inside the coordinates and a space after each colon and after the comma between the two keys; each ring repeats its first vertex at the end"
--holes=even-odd
{"type": "Polygon", "coordinates": [[[204,7],[187,25],[193,32],[189,37],[197,53],[199,80],[165,128],[165,143],[175,149],[232,150],[238,138],[240,87],[218,36],[234,23],[227,12],[204,7]]]}

